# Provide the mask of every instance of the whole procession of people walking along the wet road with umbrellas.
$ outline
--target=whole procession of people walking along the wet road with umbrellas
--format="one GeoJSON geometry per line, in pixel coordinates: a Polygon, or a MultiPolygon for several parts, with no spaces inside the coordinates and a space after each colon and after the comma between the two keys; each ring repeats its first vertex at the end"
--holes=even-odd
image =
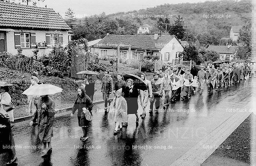
{"type": "MultiPolygon", "coordinates": [[[[184,65],[168,65],[167,69],[157,69],[153,78],[147,79],[144,73],[139,76],[122,73],[117,74],[117,80],[114,81],[109,71],[104,71],[105,76],[101,82],[102,99],[104,102],[105,114],[108,114],[108,120],[115,123],[113,129],[114,135],[128,126],[128,117],[133,114],[136,116],[135,124],[139,125],[138,109],[142,107],[142,120],[149,113],[157,115],[160,111],[161,102],[163,110],[171,107],[173,103],[182,100],[189,100],[193,94],[198,91],[203,93],[208,87],[209,95],[222,88],[228,88],[231,84],[239,84],[241,80],[247,80],[253,77],[252,63],[235,62],[215,65],[209,63],[207,67],[203,64],[199,66],[200,70],[192,69],[184,65]],[[182,90],[183,89],[183,90],[182,90]],[[114,99],[110,99],[110,94],[114,94],[114,99]],[[183,96],[181,97],[181,94],[183,96]],[[147,110],[148,109],[148,110],[147,110]]],[[[88,128],[92,121],[93,98],[95,92],[95,81],[92,75],[98,75],[95,72],[83,71],[86,75],[85,82],[77,88],[77,98],[75,100],[71,117],[78,111],[78,125],[82,128],[83,135],[81,141],[88,139],[88,128]]],[[[44,144],[42,157],[52,152],[51,139],[53,137],[53,125],[55,116],[55,104],[49,95],[60,93],[61,88],[50,84],[38,84],[39,79],[31,76],[30,87],[23,92],[27,95],[29,104],[29,114],[32,117],[29,125],[35,123],[38,127],[38,138],[44,144]]],[[[11,84],[0,83],[0,128],[1,128],[1,146],[14,145],[11,132],[11,124],[14,121],[13,106],[11,96],[8,93],[11,84]]],[[[10,163],[18,161],[15,149],[11,153],[10,163]]],[[[3,153],[3,152],[1,152],[3,153]]]]}

